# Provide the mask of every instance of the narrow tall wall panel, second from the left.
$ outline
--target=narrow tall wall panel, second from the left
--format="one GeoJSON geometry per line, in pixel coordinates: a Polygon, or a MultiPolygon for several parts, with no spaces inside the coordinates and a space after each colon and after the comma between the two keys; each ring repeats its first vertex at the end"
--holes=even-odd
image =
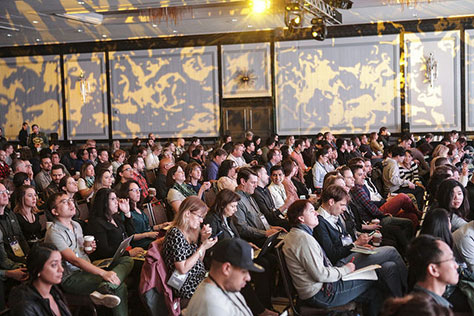
{"type": "Polygon", "coordinates": [[[69,139],[107,139],[105,53],[64,56],[69,139]]]}

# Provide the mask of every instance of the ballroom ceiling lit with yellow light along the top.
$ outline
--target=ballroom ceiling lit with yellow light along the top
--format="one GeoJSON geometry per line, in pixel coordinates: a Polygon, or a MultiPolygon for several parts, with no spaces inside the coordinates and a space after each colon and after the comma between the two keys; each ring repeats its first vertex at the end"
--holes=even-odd
{"type": "MultiPolygon", "coordinates": [[[[273,8],[258,15],[247,0],[3,0],[0,47],[285,27],[283,0],[272,1],[273,8]]],[[[338,9],[344,25],[474,15],[473,0],[418,0],[416,5],[397,0],[353,2],[350,10],[338,9]]]]}

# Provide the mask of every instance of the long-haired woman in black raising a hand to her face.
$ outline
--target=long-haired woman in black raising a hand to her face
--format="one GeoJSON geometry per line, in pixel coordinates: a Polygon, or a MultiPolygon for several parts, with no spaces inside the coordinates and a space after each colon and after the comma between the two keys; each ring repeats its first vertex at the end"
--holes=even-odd
{"type": "MultiPolygon", "coordinates": [[[[125,199],[118,199],[111,189],[103,188],[95,194],[92,210],[87,233],[95,237],[97,250],[90,257],[93,260],[112,258],[120,243],[135,233],[130,204],[125,199]]],[[[135,247],[125,255],[136,257],[143,252],[143,248],[135,247]]]]}

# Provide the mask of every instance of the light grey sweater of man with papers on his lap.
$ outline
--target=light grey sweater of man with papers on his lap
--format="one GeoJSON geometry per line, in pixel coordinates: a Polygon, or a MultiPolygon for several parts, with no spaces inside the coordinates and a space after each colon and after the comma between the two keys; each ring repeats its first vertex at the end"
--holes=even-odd
{"type": "Polygon", "coordinates": [[[293,285],[302,300],[316,295],[323,283],[339,281],[350,272],[346,266],[325,267],[323,249],[313,236],[299,228],[290,230],[282,250],[293,285]]]}

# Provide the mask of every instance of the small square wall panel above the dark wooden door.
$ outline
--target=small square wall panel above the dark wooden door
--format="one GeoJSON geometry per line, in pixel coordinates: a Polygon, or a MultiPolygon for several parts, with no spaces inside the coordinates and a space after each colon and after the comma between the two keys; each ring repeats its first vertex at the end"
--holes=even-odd
{"type": "Polygon", "coordinates": [[[224,98],[271,96],[270,43],[222,46],[224,98]]]}

